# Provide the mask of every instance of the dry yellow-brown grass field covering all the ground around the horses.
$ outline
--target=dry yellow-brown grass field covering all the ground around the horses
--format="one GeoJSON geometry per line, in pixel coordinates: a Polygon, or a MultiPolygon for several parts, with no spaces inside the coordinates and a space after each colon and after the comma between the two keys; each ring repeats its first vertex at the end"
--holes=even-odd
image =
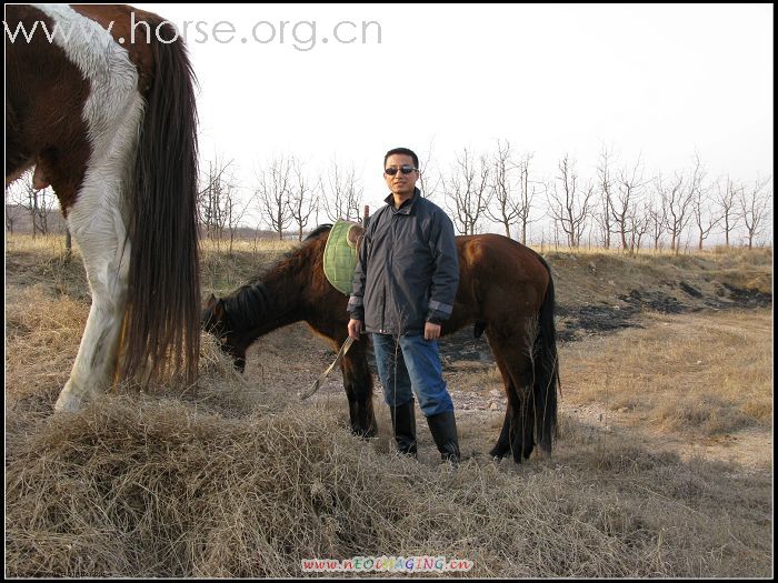
{"type": "MultiPolygon", "coordinates": [[[[205,244],[203,296],[290,245],[205,244]]],[[[7,576],[318,576],[301,560],[415,555],[468,559],[447,574],[465,577],[772,574],[771,250],[545,253],[553,455],[487,455],[505,400],[467,332],[441,342],[457,470],[421,420],[418,462],[392,453],[380,386],[375,440],[346,429],[337,371],[300,403],[335,356],[302,323],[260,339],[243,376],[203,335],[197,385],[118,386],[52,414],[89,310],[63,251],[7,241],[7,576]]]]}

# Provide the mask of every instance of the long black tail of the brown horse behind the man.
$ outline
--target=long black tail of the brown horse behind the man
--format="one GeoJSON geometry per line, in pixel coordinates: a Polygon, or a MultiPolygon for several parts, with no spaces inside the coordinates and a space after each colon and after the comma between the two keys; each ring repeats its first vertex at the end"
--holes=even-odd
{"type": "Polygon", "coordinates": [[[557,354],[557,331],[553,325],[553,278],[546,260],[541,263],[548,271],[546,298],[540,305],[538,335],[535,339],[535,433],[539,445],[551,453],[551,444],[557,435],[557,389],[559,388],[559,356],[557,354]]]}

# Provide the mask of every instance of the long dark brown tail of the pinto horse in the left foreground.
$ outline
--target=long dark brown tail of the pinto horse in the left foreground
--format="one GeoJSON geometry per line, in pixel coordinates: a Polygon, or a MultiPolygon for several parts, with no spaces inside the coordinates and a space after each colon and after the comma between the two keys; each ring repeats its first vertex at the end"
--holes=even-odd
{"type": "MultiPolygon", "coordinates": [[[[172,26],[161,22],[150,24],[174,38],[172,26]]],[[[131,255],[121,375],[148,380],[172,364],[193,380],[200,352],[196,81],[181,39],[153,40],[151,51],[153,79],[127,194],[131,255]]]]}

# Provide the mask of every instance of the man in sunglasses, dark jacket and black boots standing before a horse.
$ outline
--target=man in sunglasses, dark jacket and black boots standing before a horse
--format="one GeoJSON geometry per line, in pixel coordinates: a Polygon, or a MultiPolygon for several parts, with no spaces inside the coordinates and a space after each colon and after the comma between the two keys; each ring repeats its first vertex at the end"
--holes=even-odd
{"type": "Polygon", "coordinates": [[[440,328],[459,282],[453,225],[421,198],[419,159],[407,148],[383,158],[391,194],[370,219],[348,303],[349,336],[372,333],[378,374],[401,453],[416,456],[413,393],[443,460],[459,461],[453,403],[438,354],[440,328]],[[411,392],[412,390],[412,392],[411,392]]]}

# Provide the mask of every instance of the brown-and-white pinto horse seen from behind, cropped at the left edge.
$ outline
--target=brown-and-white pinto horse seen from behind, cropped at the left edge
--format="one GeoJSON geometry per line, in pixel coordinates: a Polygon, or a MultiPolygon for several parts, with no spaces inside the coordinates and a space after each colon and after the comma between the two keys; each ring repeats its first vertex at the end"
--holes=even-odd
{"type": "Polygon", "coordinates": [[[92,304],[54,405],[197,373],[197,114],[176,29],[126,6],[6,7],[6,185],[34,165],[92,304]]]}

